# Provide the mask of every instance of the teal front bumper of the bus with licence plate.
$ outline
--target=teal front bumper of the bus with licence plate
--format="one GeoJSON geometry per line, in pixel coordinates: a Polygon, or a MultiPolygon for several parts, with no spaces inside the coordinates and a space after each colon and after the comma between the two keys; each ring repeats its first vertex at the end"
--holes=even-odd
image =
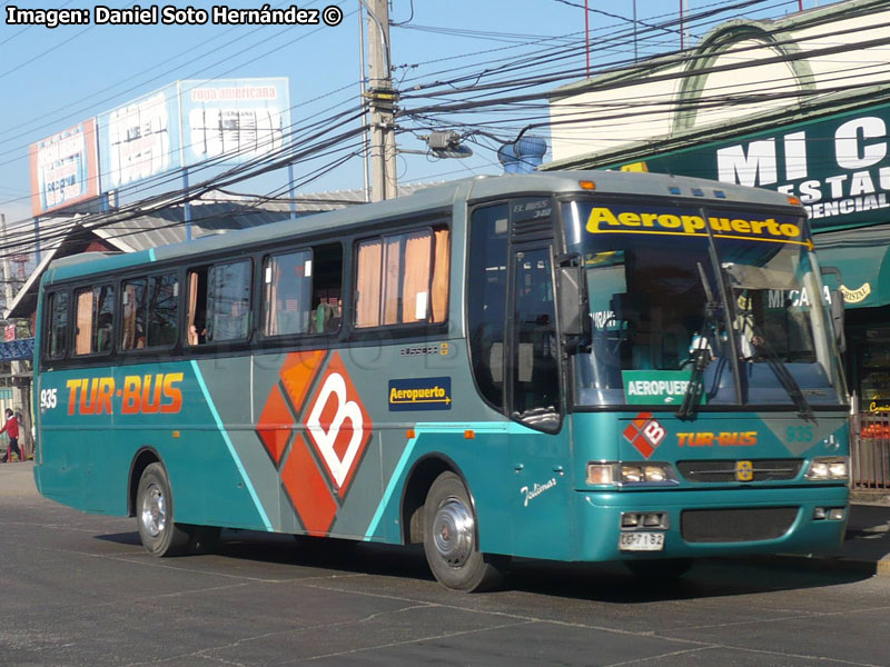
{"type": "Polygon", "coordinates": [[[838,486],[577,491],[574,500],[573,560],[587,561],[825,554],[843,541],[849,514],[838,486]]]}

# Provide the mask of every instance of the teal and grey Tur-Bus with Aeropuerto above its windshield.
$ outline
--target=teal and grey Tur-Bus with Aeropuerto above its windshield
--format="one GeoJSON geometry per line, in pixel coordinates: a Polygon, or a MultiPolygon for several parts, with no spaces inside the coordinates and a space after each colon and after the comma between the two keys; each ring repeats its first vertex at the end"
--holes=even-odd
{"type": "Polygon", "coordinates": [[[476,178],[43,276],[40,492],[135,516],[512,556],[832,549],[838,298],[785,195],[622,172],[476,178]],[[833,303],[833,307],[832,307],[833,303]]]}

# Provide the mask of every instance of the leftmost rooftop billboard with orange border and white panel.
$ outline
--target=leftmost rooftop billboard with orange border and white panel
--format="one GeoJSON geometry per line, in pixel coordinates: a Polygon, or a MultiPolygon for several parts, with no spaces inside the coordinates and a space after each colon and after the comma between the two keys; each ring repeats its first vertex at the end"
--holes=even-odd
{"type": "Polygon", "coordinates": [[[30,170],[34,216],[98,196],[96,119],[32,143],[30,170]]]}

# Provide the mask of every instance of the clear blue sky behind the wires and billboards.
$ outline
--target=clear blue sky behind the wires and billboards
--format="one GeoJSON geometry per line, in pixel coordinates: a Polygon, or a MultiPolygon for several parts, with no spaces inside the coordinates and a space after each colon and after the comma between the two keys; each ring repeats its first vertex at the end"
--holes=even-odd
{"type": "MultiPolygon", "coordinates": [[[[828,3],[822,0],[822,4],[828,3]]],[[[225,26],[209,20],[198,26],[100,26],[91,21],[87,26],[49,29],[8,22],[10,6],[34,10],[88,9],[92,18],[97,4],[82,0],[3,3],[0,212],[11,223],[23,222],[31,216],[30,145],[177,80],[287,77],[290,120],[298,137],[305,139],[306,128],[314,122],[319,122],[319,128],[340,130],[357,125],[357,120],[347,120],[348,116],[335,119],[334,115],[350,116],[359,102],[359,0],[308,0],[299,4],[319,10],[337,4],[343,13],[337,26],[225,26]]],[[[742,4],[743,0],[685,0],[685,16],[742,4]]],[[[818,0],[802,0],[804,9],[818,4],[818,0]]],[[[287,8],[290,3],[273,1],[270,6],[287,8]]],[[[676,28],[653,26],[676,19],[681,0],[587,0],[587,6],[590,27],[585,32],[584,0],[393,0],[392,63],[395,87],[404,97],[400,106],[418,109],[436,101],[496,97],[505,91],[481,88],[473,93],[457,89],[560,72],[554,81],[510,89],[543,92],[582,80],[589,57],[595,73],[597,68],[610,63],[680,48],[676,28]],[[639,21],[635,42],[634,16],[639,21]],[[498,73],[535,54],[538,60],[527,68],[498,73]],[[447,83],[451,80],[454,82],[447,83]],[[431,84],[434,86],[427,88],[431,84]],[[419,98],[418,91],[427,89],[439,91],[439,97],[419,98]],[[454,94],[448,94],[452,89],[454,94]]],[[[102,7],[120,9],[134,4],[107,0],[102,7]]],[[[151,6],[142,2],[140,7],[151,6]]],[[[171,7],[189,6],[179,2],[171,7]]],[[[191,7],[209,10],[211,3],[192,2],[191,7]]],[[[263,3],[236,0],[227,7],[259,9],[263,3]]],[[[700,19],[689,34],[689,42],[694,46],[708,31],[733,18],[780,18],[798,7],[798,0],[762,0],[728,9],[714,18],[700,19]]],[[[515,137],[524,126],[545,117],[545,107],[537,104],[500,112],[482,109],[474,113],[436,116],[433,120],[399,119],[403,129],[397,139],[399,182],[500,173],[495,153],[498,140],[515,137]],[[484,125],[490,120],[491,125],[484,125]],[[418,155],[426,149],[418,135],[428,132],[432,126],[446,129],[451,123],[465,136],[472,135],[467,141],[474,151],[471,158],[435,159],[418,155]],[[482,123],[484,132],[473,135],[465,123],[473,127],[482,123]]],[[[546,129],[540,133],[547,136],[546,129]]],[[[362,188],[363,160],[349,157],[350,151],[354,152],[344,149],[295,165],[294,176],[300,183],[298,193],[362,188]],[[333,161],[340,159],[343,163],[332,167],[333,161]]],[[[200,180],[211,173],[192,175],[192,179],[200,180]]],[[[254,195],[283,193],[287,181],[287,170],[279,169],[228,189],[254,195]]],[[[172,180],[164,187],[175,189],[180,185],[172,180]]],[[[154,190],[136,188],[130,197],[149,192],[154,190]]]]}

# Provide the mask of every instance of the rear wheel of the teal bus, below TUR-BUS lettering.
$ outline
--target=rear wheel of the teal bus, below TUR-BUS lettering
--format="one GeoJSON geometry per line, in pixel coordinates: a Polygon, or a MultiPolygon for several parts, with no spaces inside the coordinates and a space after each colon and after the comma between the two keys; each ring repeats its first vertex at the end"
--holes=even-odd
{"type": "Polygon", "coordinates": [[[178,556],[187,550],[191,535],[174,522],[170,482],[160,464],[147,466],[139,478],[136,521],[142,546],[152,556],[178,556]]]}

